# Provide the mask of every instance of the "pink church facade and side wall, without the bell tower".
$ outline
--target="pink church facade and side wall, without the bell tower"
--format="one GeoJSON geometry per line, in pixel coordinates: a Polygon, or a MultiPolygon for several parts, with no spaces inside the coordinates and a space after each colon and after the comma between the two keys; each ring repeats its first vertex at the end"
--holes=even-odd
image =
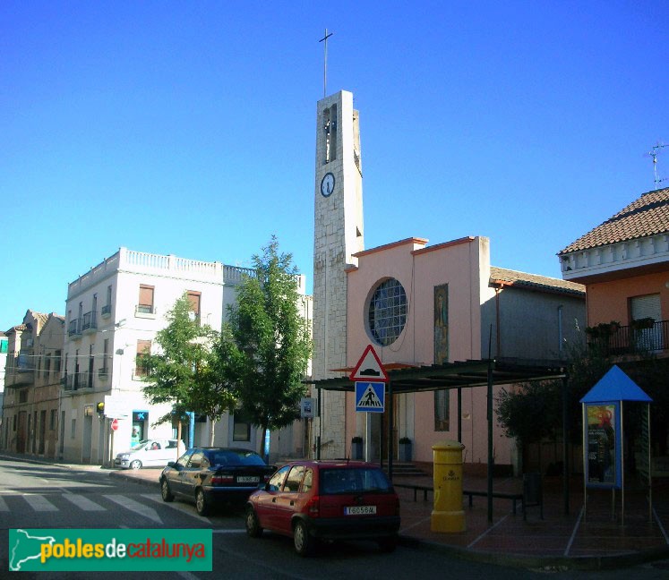
{"type": "MultiPolygon", "coordinates": [[[[370,344],[384,365],[425,366],[489,355],[556,360],[562,345],[579,340],[581,286],[492,267],[485,237],[433,246],[408,238],[355,255],[357,266],[347,269],[349,367],[370,344]]],[[[367,458],[378,460],[387,414],[356,413],[355,394],[346,397],[347,441],[370,439],[367,458]]],[[[393,447],[410,439],[413,461],[431,463],[433,444],[458,439],[459,422],[465,463],[485,465],[486,389],[462,389],[460,416],[456,397],[456,389],[395,395],[393,447]]],[[[493,441],[495,465],[516,466],[514,441],[496,420],[493,441]]]]}

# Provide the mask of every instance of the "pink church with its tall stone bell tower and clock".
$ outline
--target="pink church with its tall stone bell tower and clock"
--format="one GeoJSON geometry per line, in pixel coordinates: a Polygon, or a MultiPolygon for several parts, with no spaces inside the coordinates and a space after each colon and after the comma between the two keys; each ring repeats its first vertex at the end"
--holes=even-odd
{"type": "Polygon", "coordinates": [[[584,287],[492,266],[491,242],[483,235],[434,244],[411,237],[365,248],[362,175],[360,117],[352,93],[342,90],[317,104],[314,455],[355,456],[356,438],[368,461],[392,461],[401,441],[410,442],[412,461],[432,463],[433,444],[450,439],[464,445],[465,464],[485,464],[492,445],[495,465],[517,469],[514,442],[494,419],[488,435],[485,388],[444,380],[432,383],[438,388],[402,390],[391,376],[384,412],[365,413],[356,412],[348,375],[372,345],[383,369],[398,378],[416,369],[443,373],[456,362],[465,365],[458,372],[476,364],[485,370],[493,359],[514,370],[506,383],[498,373],[494,391],[517,388],[525,376],[516,372],[525,368],[518,362],[542,362],[535,369],[559,365],[567,346],[582,340],[584,287]]]}

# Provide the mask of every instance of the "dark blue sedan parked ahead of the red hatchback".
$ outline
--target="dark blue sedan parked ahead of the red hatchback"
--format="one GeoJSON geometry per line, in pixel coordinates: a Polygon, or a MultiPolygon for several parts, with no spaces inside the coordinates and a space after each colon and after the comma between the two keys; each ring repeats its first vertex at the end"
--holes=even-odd
{"type": "Polygon", "coordinates": [[[215,505],[244,503],[274,471],[249,449],[191,448],[160,473],[160,494],[163,501],[194,501],[206,516],[215,505]]]}

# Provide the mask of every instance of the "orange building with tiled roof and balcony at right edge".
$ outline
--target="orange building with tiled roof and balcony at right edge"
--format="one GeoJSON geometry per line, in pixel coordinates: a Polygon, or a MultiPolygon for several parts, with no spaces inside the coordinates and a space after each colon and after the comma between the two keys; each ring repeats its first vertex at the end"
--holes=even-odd
{"type": "Polygon", "coordinates": [[[587,288],[590,342],[607,354],[669,354],[669,188],[647,192],[558,253],[587,288]]]}

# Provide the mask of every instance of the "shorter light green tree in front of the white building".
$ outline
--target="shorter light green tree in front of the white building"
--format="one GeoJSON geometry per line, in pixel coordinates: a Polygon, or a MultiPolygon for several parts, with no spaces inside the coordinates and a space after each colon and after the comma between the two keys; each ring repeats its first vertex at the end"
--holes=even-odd
{"type": "Polygon", "coordinates": [[[172,411],[157,422],[177,421],[177,439],[182,439],[182,422],[187,413],[204,414],[213,424],[227,410],[234,408],[234,390],[221,372],[220,359],[211,346],[219,333],[210,326],[201,326],[193,316],[187,294],[167,312],[167,327],[156,334],[156,353],[142,355],[146,371],[144,395],[152,404],[169,403],[172,411]]]}

